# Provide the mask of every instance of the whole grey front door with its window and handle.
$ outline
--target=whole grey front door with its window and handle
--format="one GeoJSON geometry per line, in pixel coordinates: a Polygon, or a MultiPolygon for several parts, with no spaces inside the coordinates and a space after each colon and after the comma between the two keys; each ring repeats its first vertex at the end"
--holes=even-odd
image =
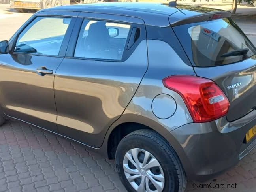
{"type": "Polygon", "coordinates": [[[57,132],[54,75],[75,18],[35,17],[0,55],[0,105],[6,115],[57,132]]]}

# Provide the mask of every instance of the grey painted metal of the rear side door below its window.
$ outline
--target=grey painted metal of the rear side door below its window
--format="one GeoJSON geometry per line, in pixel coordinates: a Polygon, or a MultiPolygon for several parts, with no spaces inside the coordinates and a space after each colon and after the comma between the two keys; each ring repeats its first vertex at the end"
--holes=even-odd
{"type": "Polygon", "coordinates": [[[100,147],[135,94],[147,62],[146,40],[124,62],[64,58],[54,83],[60,133],[100,147]]]}

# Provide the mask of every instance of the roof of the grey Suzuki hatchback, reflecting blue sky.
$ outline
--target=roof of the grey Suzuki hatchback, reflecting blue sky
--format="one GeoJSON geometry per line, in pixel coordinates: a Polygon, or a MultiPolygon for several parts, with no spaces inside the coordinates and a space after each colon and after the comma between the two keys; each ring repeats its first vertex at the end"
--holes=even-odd
{"type": "Polygon", "coordinates": [[[137,17],[143,19],[145,24],[153,26],[169,26],[169,16],[172,22],[185,19],[201,13],[219,11],[199,6],[177,5],[169,6],[164,3],[148,2],[102,2],[88,4],[73,4],[67,6],[57,6],[42,11],[79,11],[92,13],[106,13],[113,15],[122,15],[128,17],[137,17]],[[176,14],[177,13],[177,14],[176,14]]]}

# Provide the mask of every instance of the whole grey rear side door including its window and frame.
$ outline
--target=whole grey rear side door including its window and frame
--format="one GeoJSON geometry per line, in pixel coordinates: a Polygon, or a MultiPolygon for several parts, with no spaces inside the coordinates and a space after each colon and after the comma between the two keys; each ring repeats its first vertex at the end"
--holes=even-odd
{"type": "Polygon", "coordinates": [[[55,75],[61,134],[100,147],[147,70],[143,20],[80,13],[55,75]]]}

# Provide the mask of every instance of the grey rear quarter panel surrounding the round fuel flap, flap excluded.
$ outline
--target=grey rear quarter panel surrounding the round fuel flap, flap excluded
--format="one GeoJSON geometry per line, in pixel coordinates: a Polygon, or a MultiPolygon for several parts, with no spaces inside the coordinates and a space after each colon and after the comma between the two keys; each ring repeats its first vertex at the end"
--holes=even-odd
{"type": "MultiPolygon", "coordinates": [[[[183,124],[193,121],[181,96],[165,88],[162,79],[170,75],[181,74],[180,70],[182,70],[184,75],[195,75],[195,73],[193,68],[185,64],[166,42],[147,40],[147,45],[149,68],[136,94],[122,116],[128,114],[143,116],[144,118],[154,120],[169,132],[183,124]],[[159,47],[161,47],[161,49],[159,49],[159,47]],[[168,119],[158,119],[151,109],[154,97],[162,93],[172,96],[177,104],[176,112],[168,119]],[[177,121],[177,119],[179,119],[179,121],[177,121]]],[[[132,121],[132,119],[130,121],[132,121]]],[[[149,127],[155,129],[154,126],[149,127]]],[[[156,130],[163,136],[167,134],[166,130],[159,130],[158,128],[156,128],[156,130]]]]}

